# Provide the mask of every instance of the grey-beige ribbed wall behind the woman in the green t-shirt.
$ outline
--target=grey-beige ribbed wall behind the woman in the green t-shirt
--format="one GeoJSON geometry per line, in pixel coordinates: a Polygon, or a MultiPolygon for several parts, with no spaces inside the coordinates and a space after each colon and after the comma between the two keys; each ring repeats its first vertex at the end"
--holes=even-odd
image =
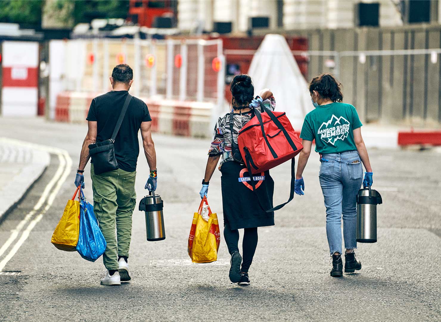
{"type": "MultiPolygon", "coordinates": [[[[441,48],[441,26],[297,30],[307,37],[310,50],[363,51],[441,48]]],[[[310,80],[320,73],[334,73],[326,60],[311,56],[310,80]]],[[[441,127],[441,55],[340,57],[340,82],[344,101],[355,105],[364,122],[408,123],[415,127],[441,127]]]]}

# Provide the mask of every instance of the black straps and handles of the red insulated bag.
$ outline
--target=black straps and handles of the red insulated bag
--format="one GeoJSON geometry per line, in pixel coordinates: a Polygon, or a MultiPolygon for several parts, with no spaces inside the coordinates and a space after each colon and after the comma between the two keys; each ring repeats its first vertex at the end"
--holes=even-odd
{"type": "MultiPolygon", "coordinates": [[[[270,109],[267,109],[266,106],[260,102],[260,107],[262,109],[262,112],[266,112],[268,114],[268,116],[270,117],[270,119],[274,122],[274,124],[277,125],[277,127],[279,128],[279,130],[282,131],[282,133],[285,135],[285,138],[287,139],[289,145],[292,147],[293,151],[297,150],[297,147],[295,146],[294,142],[292,141],[291,137],[288,134],[288,131],[286,131],[286,129],[283,127],[283,125],[280,123],[280,121],[277,119],[277,117],[273,114],[273,112],[270,109]]],[[[271,151],[271,154],[273,155],[274,158],[277,158],[277,154],[274,151],[273,147],[269,144],[268,139],[266,138],[266,134],[265,134],[265,128],[263,126],[263,121],[262,121],[262,115],[261,113],[258,111],[258,109],[253,108],[254,110],[254,114],[257,117],[257,120],[259,121],[260,124],[260,128],[262,130],[262,135],[265,138],[265,142],[269,148],[269,150],[271,151]]],[[[251,172],[251,165],[253,165],[253,167],[255,169],[257,169],[257,167],[254,165],[253,162],[253,158],[251,157],[250,151],[248,151],[247,147],[244,148],[245,150],[245,161],[247,164],[247,169],[248,169],[248,174],[250,175],[250,183],[251,186],[253,187],[253,191],[256,194],[257,200],[259,202],[259,206],[262,208],[262,210],[265,210],[262,207],[262,203],[260,202],[259,196],[257,194],[256,191],[256,181],[254,181],[254,176],[253,173],[251,172]]],[[[284,202],[278,206],[275,206],[269,210],[265,210],[267,213],[273,212],[275,210],[279,210],[281,208],[283,208],[288,202],[290,202],[293,198],[294,198],[294,187],[295,187],[295,158],[291,159],[291,191],[289,193],[289,199],[287,202],[284,202]]]]}

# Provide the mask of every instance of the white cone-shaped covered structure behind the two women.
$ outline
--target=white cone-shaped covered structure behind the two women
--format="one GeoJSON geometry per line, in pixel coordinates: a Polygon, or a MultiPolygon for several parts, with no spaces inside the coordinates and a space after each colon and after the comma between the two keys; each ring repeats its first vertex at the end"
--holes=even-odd
{"type": "Polygon", "coordinates": [[[314,106],[308,85],[282,35],[265,36],[251,60],[248,75],[253,79],[255,93],[263,88],[273,92],[276,110],[285,111],[294,129],[299,131],[314,106]]]}

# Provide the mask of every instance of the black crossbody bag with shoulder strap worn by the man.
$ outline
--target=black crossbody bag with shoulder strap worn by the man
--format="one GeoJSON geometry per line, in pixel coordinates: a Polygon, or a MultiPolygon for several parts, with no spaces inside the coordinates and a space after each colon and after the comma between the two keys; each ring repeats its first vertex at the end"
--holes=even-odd
{"type": "Polygon", "coordinates": [[[130,94],[127,94],[126,101],[124,102],[120,117],[116,122],[115,130],[113,130],[112,138],[89,145],[89,154],[92,158],[93,172],[95,172],[95,174],[101,174],[119,168],[118,162],[116,161],[115,157],[115,146],[113,145],[113,143],[115,142],[118,131],[120,131],[124,115],[126,115],[127,108],[129,107],[129,103],[132,97],[133,96],[131,96],[130,94]]]}

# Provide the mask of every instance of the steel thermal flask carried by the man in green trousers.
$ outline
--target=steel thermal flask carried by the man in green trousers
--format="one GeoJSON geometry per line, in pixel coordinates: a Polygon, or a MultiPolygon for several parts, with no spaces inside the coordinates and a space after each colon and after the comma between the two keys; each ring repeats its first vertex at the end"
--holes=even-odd
{"type": "Polygon", "coordinates": [[[139,210],[146,212],[146,232],[148,241],[165,239],[164,213],[162,209],[164,202],[160,195],[154,192],[149,193],[139,202],[139,210]]]}

